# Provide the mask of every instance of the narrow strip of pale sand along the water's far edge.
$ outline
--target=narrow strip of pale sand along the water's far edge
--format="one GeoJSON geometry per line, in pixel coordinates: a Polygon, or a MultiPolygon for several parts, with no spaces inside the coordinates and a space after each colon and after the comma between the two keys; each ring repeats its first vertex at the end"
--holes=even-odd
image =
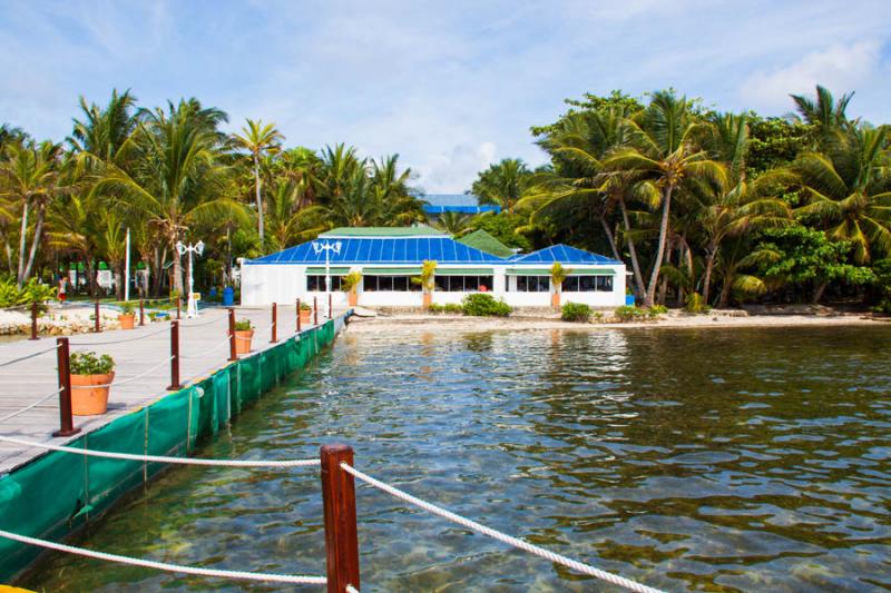
{"type": "Polygon", "coordinates": [[[650,322],[569,323],[558,316],[464,317],[462,315],[393,314],[378,317],[352,317],[351,333],[380,330],[434,329],[447,333],[490,330],[554,330],[601,332],[607,329],[702,329],[702,328],[781,328],[826,326],[874,326],[891,329],[891,318],[872,318],[864,314],[839,315],[740,315],[738,312],[683,315],[669,313],[650,322]]]}

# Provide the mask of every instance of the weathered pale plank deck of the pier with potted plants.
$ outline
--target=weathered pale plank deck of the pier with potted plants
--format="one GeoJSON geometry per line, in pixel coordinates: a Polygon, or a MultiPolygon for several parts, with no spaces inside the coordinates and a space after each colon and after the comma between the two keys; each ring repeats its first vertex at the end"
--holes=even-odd
{"type": "MultiPolygon", "coordinates": [[[[321,306],[320,306],[321,309],[321,306]]],[[[319,312],[319,320],[323,322],[324,309],[319,312]]],[[[296,329],[295,307],[278,306],[278,339],[293,336],[296,329]]],[[[335,309],[334,315],[342,314],[335,309]]],[[[261,352],[272,346],[270,308],[236,308],[237,319],[251,319],[255,328],[253,352],[261,352]]],[[[75,416],[75,426],[81,434],[96,431],[118,416],[123,416],[150,404],[166,395],[170,384],[170,324],[166,322],[148,324],[131,330],[111,330],[99,334],[77,334],[69,336],[71,353],[95,350],[110,354],[116,362],[116,376],[109,395],[108,413],[101,416],[75,416]],[[136,339],[139,338],[139,339],[136,339]],[[158,366],[159,365],[159,366],[158,366]],[[157,367],[154,368],[153,367],[157,367]],[[147,373],[148,372],[148,373],[147,373]],[[143,373],[146,376],[129,383],[128,378],[143,373]],[[119,384],[120,383],[120,384],[119,384]],[[119,385],[118,385],[119,384],[119,385]]],[[[138,323],[138,319],[137,319],[138,323]]],[[[303,327],[309,329],[312,324],[303,327]]],[[[180,383],[188,385],[203,379],[216,369],[225,366],[229,356],[228,323],[226,309],[207,309],[200,317],[186,319],[179,324],[179,377],[180,383]]],[[[0,365],[8,360],[39,353],[9,366],[0,366],[0,418],[19,411],[58,389],[56,370],[56,338],[46,337],[38,340],[18,340],[0,344],[0,365]]],[[[81,434],[69,438],[52,436],[59,428],[59,397],[50,397],[46,402],[18,416],[0,422],[0,435],[27,438],[29,441],[65,444],[78,438],[81,434]]],[[[0,443],[0,475],[42,455],[43,449],[19,447],[9,443],[0,443]]]]}

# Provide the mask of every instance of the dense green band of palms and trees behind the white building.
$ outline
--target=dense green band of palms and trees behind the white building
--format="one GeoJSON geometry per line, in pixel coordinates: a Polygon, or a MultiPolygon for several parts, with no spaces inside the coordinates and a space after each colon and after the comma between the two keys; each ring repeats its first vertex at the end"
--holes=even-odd
{"type": "MultiPolygon", "coordinates": [[[[508,158],[468,188],[501,213],[437,225],[527,251],[566,243],[620,259],[647,309],[831,300],[891,310],[889,128],[849,115],[851,101],[817,87],[776,118],[674,90],[567,100],[556,121],[531,128],[546,165],[508,158]]],[[[115,91],[102,105],[81,99],[62,141],[0,126],[8,305],[68,269],[100,296],[106,266],[121,299],[128,231],[137,290],[160,297],[184,291],[180,240],[207,244],[197,285],[222,286],[238,258],[333,227],[427,221],[423,190],[396,155],[288,144],[261,119],[227,134],[227,122],[195,98],[150,108],[115,91]]]]}

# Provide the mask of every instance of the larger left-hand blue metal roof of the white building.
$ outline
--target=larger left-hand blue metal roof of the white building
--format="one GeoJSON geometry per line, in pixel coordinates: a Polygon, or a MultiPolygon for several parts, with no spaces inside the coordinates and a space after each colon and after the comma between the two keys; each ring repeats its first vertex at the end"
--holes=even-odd
{"type": "MultiPolygon", "coordinates": [[[[379,237],[342,238],[340,254],[330,253],[329,261],[337,264],[418,264],[434,259],[440,264],[498,264],[505,259],[468,247],[451,237],[379,237]]],[[[333,243],[327,239],[326,243],[333,243]]],[[[324,264],[325,254],[316,254],[312,241],[270,254],[245,264],[324,264]]]]}

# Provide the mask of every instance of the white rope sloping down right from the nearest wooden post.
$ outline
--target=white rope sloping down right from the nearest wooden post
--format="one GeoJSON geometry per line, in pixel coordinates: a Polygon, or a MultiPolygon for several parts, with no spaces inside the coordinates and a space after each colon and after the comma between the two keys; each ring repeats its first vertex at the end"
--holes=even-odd
{"type": "Polygon", "coordinates": [[[557,564],[562,564],[564,566],[566,566],[568,569],[572,569],[574,571],[580,572],[582,574],[595,576],[597,579],[600,579],[601,581],[606,581],[607,583],[613,583],[614,585],[623,586],[623,587],[625,587],[625,589],[627,589],[629,591],[636,591],[638,593],[662,593],[662,591],[659,591],[658,589],[653,589],[653,587],[647,586],[647,585],[642,585],[640,583],[631,581],[630,579],[625,579],[624,576],[619,576],[617,574],[613,574],[613,573],[609,573],[609,572],[606,572],[606,571],[601,571],[600,569],[595,569],[594,566],[591,566],[589,564],[585,564],[582,562],[578,562],[576,560],[572,560],[570,557],[567,557],[567,556],[564,556],[564,555],[560,555],[560,554],[556,554],[556,553],[554,553],[554,552],[551,552],[549,550],[545,550],[544,547],[537,546],[535,544],[530,544],[529,542],[525,542],[525,541],[519,540],[517,537],[512,537],[510,535],[501,533],[500,531],[496,531],[496,530],[493,530],[491,527],[487,527],[486,525],[482,525],[481,523],[477,523],[476,521],[471,521],[471,520],[469,520],[467,517],[462,517],[461,515],[457,515],[457,514],[452,513],[451,511],[447,511],[447,510],[442,508],[441,506],[437,506],[434,504],[431,504],[431,503],[428,503],[425,501],[422,501],[421,498],[417,498],[417,497],[412,496],[411,494],[409,494],[407,492],[403,492],[403,491],[401,491],[401,490],[399,490],[396,487],[393,487],[393,486],[391,486],[389,484],[385,484],[385,483],[381,482],[380,480],[375,480],[375,478],[371,477],[370,475],[363,474],[362,472],[360,472],[355,467],[352,467],[352,466],[347,465],[346,463],[341,463],[341,467],[343,467],[343,470],[346,473],[355,476],[356,478],[361,480],[362,482],[364,482],[366,484],[370,484],[370,485],[374,486],[375,488],[380,488],[380,490],[384,491],[385,493],[390,494],[391,496],[395,496],[396,498],[405,501],[407,503],[411,503],[411,504],[413,504],[415,506],[419,506],[419,507],[423,508],[424,511],[427,511],[428,513],[433,513],[434,515],[439,515],[439,516],[441,516],[443,518],[447,518],[447,520],[449,520],[449,521],[451,521],[453,523],[458,523],[459,525],[463,525],[464,527],[467,527],[469,530],[473,530],[477,533],[481,533],[483,535],[488,535],[489,537],[498,540],[499,542],[503,542],[503,543],[506,543],[508,545],[512,545],[513,547],[518,547],[518,548],[520,548],[520,550],[522,550],[525,552],[529,552],[529,553],[536,554],[537,556],[541,556],[542,559],[549,560],[550,562],[556,562],[557,564]]]}

